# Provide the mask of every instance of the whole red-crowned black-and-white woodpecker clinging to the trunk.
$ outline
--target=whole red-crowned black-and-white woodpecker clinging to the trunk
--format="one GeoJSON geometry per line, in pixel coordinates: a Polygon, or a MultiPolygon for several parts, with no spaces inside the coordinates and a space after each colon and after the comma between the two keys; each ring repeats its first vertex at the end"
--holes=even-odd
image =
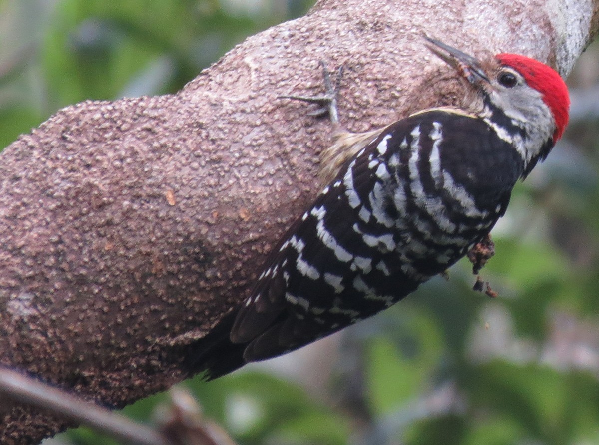
{"type": "MultiPolygon", "coordinates": [[[[463,106],[423,109],[367,133],[337,130],[326,185],[268,256],[249,297],[202,339],[213,379],[386,309],[488,235],[518,179],[568,121],[568,90],[537,60],[477,60],[429,39],[465,85],[463,106]]],[[[338,129],[338,72],[321,97],[338,129]]]]}

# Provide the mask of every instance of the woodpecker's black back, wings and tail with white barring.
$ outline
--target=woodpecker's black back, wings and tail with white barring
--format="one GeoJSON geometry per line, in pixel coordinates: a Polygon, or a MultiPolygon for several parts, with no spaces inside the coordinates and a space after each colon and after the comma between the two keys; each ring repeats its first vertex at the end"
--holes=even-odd
{"type": "Polygon", "coordinates": [[[273,249],[196,368],[218,377],[401,300],[491,230],[523,171],[515,148],[474,115],[432,109],[387,127],[273,249]]]}

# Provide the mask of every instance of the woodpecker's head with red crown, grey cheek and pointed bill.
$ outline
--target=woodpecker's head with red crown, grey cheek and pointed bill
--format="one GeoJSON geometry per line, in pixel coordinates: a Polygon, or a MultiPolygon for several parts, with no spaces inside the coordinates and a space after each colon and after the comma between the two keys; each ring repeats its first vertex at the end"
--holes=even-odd
{"type": "Polygon", "coordinates": [[[524,175],[547,156],[568,123],[570,98],[559,74],[538,60],[497,54],[477,60],[435,39],[431,51],[452,66],[475,93],[473,108],[512,139],[524,175]],[[481,102],[482,101],[482,102],[481,102]]]}

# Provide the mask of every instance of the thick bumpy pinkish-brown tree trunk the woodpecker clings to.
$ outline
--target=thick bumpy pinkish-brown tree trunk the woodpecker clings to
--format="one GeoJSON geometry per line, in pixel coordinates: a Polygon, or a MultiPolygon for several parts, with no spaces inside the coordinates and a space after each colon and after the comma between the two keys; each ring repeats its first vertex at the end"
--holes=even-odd
{"type": "MultiPolygon", "coordinates": [[[[116,407],[189,377],[185,356],[319,189],[328,123],[277,95],[322,92],[319,60],[343,64],[341,123],[365,131],[445,93],[423,32],[565,75],[596,11],[582,0],[322,0],[177,95],[59,111],[2,153],[0,363],[116,407]]],[[[65,426],[4,400],[0,419],[6,444],[65,426]]]]}

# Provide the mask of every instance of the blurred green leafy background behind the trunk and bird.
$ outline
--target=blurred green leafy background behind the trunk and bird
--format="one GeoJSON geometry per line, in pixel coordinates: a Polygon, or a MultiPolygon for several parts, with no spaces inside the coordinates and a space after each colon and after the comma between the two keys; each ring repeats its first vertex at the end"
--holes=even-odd
{"type": "MultiPolygon", "coordinates": [[[[0,147],[71,103],[175,92],[311,3],[0,0],[0,147]]],[[[483,276],[498,298],[473,292],[462,262],[344,331],[330,372],[290,355],[318,391],[268,367],[186,382],[206,415],[243,444],[598,444],[597,66],[591,48],[570,77],[564,141],[494,231],[483,276]]],[[[125,413],[145,421],[164,399],[125,413]]],[[[86,428],[58,440],[114,443],[86,428]]]]}

